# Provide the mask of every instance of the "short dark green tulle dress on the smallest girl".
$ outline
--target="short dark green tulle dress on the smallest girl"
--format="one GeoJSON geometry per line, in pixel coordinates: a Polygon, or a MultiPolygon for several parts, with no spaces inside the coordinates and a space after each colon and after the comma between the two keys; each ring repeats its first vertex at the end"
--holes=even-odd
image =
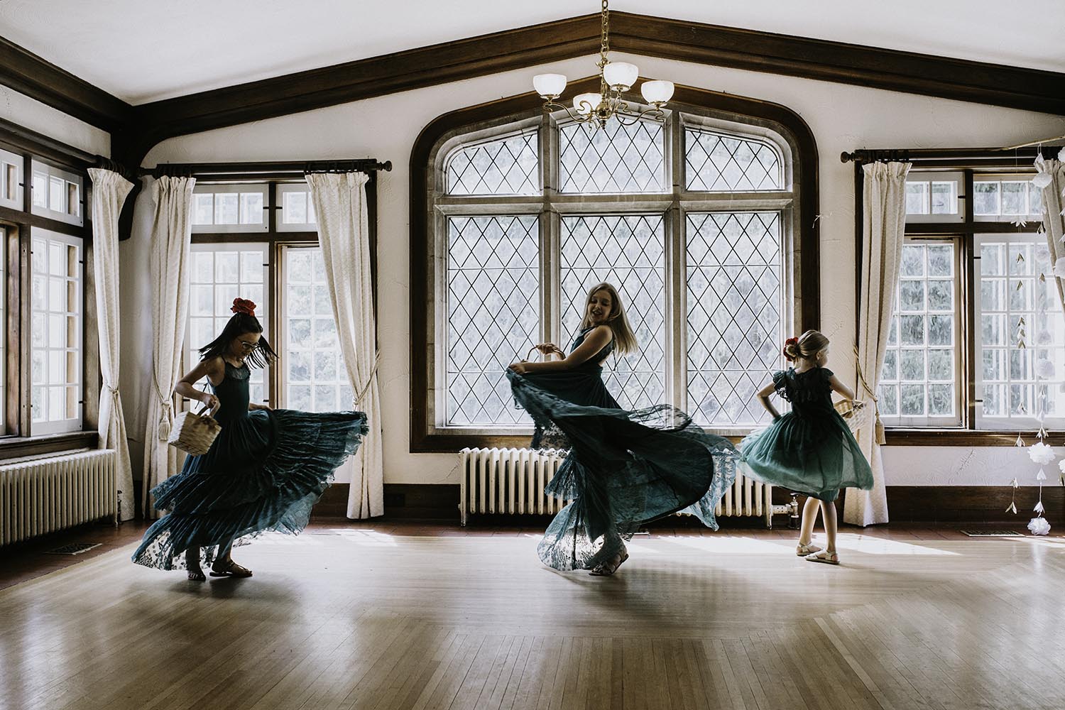
{"type": "Polygon", "coordinates": [[[831,377],[825,367],[773,373],[791,411],[740,442],[746,474],[821,500],[835,500],[839,489],[872,488],[869,462],[832,406],[831,377]]]}

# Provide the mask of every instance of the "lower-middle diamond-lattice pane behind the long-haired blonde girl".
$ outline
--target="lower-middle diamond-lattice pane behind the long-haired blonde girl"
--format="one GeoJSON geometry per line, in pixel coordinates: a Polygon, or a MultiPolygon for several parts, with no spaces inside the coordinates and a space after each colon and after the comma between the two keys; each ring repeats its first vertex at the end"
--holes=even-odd
{"type": "Polygon", "coordinates": [[[639,348],[604,364],[603,380],[624,409],[665,400],[665,225],[661,215],[562,218],[562,331],[575,336],[588,290],[612,283],[639,348]]]}

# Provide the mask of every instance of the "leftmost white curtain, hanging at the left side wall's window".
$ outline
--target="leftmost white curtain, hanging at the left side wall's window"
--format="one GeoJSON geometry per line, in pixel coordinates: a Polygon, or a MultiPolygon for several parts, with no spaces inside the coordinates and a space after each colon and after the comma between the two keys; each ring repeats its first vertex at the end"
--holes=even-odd
{"type": "Polygon", "coordinates": [[[118,396],[118,215],[133,183],[112,170],[89,168],[93,180],[93,263],[96,280],[96,315],[100,339],[100,420],[101,449],[118,452],[118,516],[129,521],[135,512],[133,467],[130,465],[126,417],[118,396]]]}

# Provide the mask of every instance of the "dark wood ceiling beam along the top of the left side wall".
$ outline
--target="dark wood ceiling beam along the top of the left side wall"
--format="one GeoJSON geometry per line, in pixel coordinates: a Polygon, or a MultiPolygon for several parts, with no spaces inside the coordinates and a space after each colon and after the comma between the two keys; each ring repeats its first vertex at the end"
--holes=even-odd
{"type": "Polygon", "coordinates": [[[0,37],[0,84],[104,131],[133,120],[130,104],[4,37],[0,37]]]}

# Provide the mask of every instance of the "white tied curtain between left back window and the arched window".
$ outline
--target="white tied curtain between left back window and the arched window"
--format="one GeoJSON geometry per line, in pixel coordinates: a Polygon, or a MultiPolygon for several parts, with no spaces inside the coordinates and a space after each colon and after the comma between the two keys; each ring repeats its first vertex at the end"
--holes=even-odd
{"type": "Polygon", "coordinates": [[[377,326],[370,274],[366,180],[362,172],[310,174],[318,241],[325,258],[337,334],[354,409],[366,413],[370,433],[356,455],[347,516],[384,514],[384,465],[381,452],[380,393],[377,387],[377,326]]]}

